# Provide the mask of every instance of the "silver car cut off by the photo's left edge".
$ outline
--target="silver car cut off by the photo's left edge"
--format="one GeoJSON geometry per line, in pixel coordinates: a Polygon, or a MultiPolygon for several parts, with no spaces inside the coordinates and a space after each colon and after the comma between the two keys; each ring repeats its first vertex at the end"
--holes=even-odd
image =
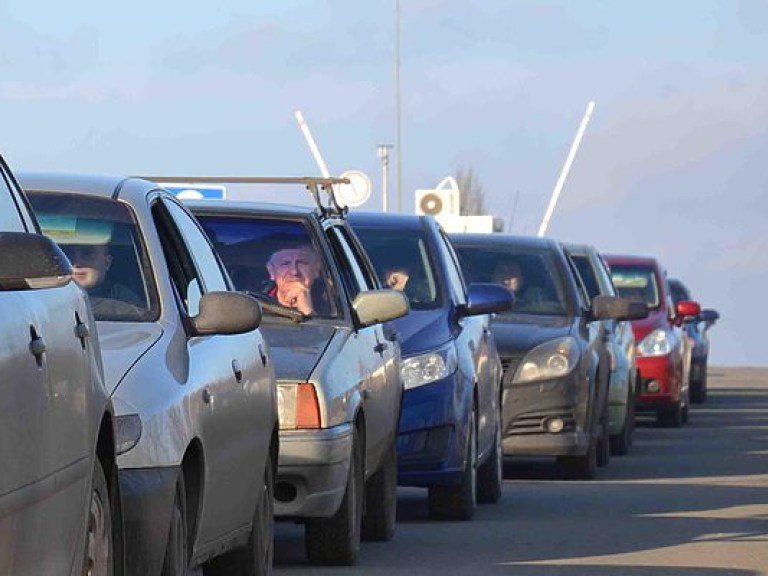
{"type": "Polygon", "coordinates": [[[0,574],[121,573],[96,325],[1,157],[0,310],[0,574]]]}

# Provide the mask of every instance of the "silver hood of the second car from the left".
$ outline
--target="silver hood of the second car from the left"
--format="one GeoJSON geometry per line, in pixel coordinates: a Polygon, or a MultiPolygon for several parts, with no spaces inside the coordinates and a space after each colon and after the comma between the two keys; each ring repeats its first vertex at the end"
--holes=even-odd
{"type": "Polygon", "coordinates": [[[111,395],[138,359],[160,340],[163,329],[152,322],[98,322],[97,329],[111,395]]]}

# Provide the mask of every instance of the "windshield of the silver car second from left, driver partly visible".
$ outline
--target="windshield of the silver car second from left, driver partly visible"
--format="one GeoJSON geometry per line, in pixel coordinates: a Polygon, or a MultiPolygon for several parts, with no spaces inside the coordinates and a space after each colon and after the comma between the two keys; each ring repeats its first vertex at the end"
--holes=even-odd
{"type": "Polygon", "coordinates": [[[149,259],[133,211],[118,200],[29,192],[43,233],[72,262],[96,320],[149,322],[159,316],[149,259]]]}

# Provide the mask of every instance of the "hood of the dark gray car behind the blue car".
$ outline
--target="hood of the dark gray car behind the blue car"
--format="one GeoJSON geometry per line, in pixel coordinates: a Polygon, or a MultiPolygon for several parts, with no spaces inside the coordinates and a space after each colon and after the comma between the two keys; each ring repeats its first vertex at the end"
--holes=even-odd
{"type": "Polygon", "coordinates": [[[535,346],[571,333],[573,319],[566,316],[505,314],[491,328],[501,357],[525,354],[535,346]]]}

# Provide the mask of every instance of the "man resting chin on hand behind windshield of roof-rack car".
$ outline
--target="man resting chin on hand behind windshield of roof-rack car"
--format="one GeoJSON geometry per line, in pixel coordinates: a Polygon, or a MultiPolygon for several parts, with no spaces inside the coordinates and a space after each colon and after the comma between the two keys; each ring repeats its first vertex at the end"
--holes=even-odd
{"type": "Polygon", "coordinates": [[[271,280],[268,296],[304,315],[318,313],[313,285],[320,276],[321,268],[311,244],[289,244],[278,248],[267,260],[267,271],[271,280]]]}

